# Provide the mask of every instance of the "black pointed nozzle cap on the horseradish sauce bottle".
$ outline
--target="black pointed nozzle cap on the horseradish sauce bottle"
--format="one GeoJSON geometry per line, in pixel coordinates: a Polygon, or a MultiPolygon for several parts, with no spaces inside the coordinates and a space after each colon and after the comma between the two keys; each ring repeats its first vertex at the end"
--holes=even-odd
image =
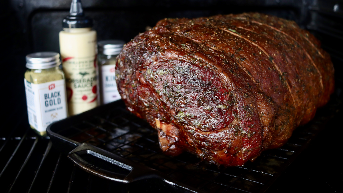
{"type": "Polygon", "coordinates": [[[93,20],[84,15],[81,0],[72,0],[69,15],[63,19],[63,28],[92,27],[93,20]]]}

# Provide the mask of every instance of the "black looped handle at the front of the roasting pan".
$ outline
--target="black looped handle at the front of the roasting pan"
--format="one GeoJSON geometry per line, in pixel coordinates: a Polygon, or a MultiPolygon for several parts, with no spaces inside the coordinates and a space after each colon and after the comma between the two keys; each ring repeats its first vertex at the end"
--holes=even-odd
{"type": "Polygon", "coordinates": [[[165,180],[163,173],[83,143],[68,154],[76,166],[100,178],[129,183],[146,178],[165,180]],[[90,163],[91,162],[91,163],[90,163]]]}

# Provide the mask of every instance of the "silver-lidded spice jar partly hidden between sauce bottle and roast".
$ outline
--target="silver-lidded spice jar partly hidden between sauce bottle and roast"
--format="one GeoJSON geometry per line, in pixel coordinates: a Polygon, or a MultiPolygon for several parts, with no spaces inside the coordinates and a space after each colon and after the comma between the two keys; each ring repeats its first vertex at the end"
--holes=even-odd
{"type": "Polygon", "coordinates": [[[107,104],[121,99],[116,83],[116,58],[123,45],[122,40],[105,40],[98,42],[99,51],[99,80],[100,80],[100,102],[107,104]]]}

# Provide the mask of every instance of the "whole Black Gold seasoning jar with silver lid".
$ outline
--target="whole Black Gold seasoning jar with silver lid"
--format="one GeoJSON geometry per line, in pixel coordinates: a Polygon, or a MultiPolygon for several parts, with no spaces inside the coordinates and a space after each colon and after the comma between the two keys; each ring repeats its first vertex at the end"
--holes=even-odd
{"type": "Polygon", "coordinates": [[[67,118],[64,73],[59,69],[60,55],[38,52],[26,56],[25,93],[28,122],[40,135],[53,122],[67,118]]]}

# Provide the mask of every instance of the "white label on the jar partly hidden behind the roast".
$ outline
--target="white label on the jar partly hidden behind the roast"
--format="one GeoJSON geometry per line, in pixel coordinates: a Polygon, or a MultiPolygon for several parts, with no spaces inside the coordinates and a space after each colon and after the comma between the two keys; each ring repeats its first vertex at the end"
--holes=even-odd
{"type": "Polygon", "coordinates": [[[101,68],[104,104],[121,99],[116,83],[115,68],[115,64],[104,65],[101,68]]]}

